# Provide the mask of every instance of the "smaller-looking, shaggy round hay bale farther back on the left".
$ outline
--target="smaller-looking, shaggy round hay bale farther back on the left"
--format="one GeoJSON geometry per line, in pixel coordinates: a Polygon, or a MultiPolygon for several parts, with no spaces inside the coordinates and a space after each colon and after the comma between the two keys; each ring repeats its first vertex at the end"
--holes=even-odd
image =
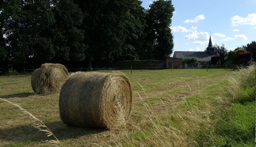
{"type": "Polygon", "coordinates": [[[45,63],[32,73],[31,86],[36,94],[58,93],[67,77],[68,71],[64,65],[45,63]]]}

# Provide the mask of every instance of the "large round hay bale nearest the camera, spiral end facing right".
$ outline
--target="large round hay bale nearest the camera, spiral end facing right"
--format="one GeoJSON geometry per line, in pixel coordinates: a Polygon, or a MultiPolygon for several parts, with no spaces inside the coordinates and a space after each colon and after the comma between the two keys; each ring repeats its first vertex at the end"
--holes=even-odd
{"type": "Polygon", "coordinates": [[[60,91],[60,117],[70,126],[117,128],[132,110],[132,87],[119,71],[75,72],[60,91]]]}

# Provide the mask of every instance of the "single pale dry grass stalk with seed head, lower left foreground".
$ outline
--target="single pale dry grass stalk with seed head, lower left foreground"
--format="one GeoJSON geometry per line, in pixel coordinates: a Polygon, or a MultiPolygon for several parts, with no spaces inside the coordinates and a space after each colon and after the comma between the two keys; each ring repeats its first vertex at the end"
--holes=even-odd
{"type": "MultiPolygon", "coordinates": [[[[39,129],[40,131],[46,132],[47,137],[50,137],[51,135],[53,135],[54,138],[57,140],[57,141],[56,141],[56,140],[46,140],[46,141],[43,141],[43,142],[50,142],[50,143],[59,144],[60,146],[62,146],[62,144],[61,144],[60,141],[55,137],[55,135],[53,134],[53,132],[50,131],[50,129],[49,129],[45,124],[43,124],[43,122],[42,122],[40,119],[34,117],[31,113],[29,113],[28,111],[26,111],[25,109],[23,109],[23,108],[22,108],[21,106],[19,106],[18,104],[14,104],[14,103],[9,102],[8,100],[2,99],[2,98],[0,98],[0,100],[2,100],[2,101],[4,101],[4,102],[7,102],[7,103],[9,103],[9,104],[11,104],[11,105],[13,105],[13,106],[18,107],[19,110],[20,110],[21,112],[23,112],[25,115],[28,115],[28,116],[30,116],[31,118],[35,119],[36,121],[39,121],[41,124],[32,124],[33,127],[39,129]],[[42,128],[46,128],[46,129],[42,129],[42,128]]],[[[62,147],[63,147],[63,146],[62,146],[62,147]]]]}

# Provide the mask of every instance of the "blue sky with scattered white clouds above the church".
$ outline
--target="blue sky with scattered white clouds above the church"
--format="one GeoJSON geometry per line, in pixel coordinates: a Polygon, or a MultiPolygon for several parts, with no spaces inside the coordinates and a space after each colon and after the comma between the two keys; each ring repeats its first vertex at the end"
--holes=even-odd
{"type": "MultiPolygon", "coordinates": [[[[142,0],[149,8],[154,0],[142,0]]],[[[213,43],[228,50],[256,41],[256,0],[172,0],[174,51],[201,51],[213,43]],[[210,33],[211,31],[211,33],[210,33]]]]}

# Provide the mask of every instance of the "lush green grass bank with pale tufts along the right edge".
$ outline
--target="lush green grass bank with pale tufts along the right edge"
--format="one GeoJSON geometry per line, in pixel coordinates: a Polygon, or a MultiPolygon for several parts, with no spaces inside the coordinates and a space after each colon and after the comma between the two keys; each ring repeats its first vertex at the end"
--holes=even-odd
{"type": "Polygon", "coordinates": [[[240,68],[229,79],[231,104],[220,115],[216,127],[226,146],[254,146],[255,135],[255,70],[256,64],[240,68]]]}

